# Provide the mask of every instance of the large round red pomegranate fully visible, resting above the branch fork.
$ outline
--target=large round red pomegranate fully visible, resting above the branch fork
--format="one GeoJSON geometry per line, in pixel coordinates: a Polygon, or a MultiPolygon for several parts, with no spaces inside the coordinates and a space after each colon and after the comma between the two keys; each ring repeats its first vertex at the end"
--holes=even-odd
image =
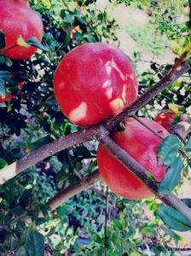
{"type": "Polygon", "coordinates": [[[54,92],[71,122],[90,126],[119,114],[136,100],[136,74],[118,48],[105,43],[79,45],[56,69],[54,92]]]}

